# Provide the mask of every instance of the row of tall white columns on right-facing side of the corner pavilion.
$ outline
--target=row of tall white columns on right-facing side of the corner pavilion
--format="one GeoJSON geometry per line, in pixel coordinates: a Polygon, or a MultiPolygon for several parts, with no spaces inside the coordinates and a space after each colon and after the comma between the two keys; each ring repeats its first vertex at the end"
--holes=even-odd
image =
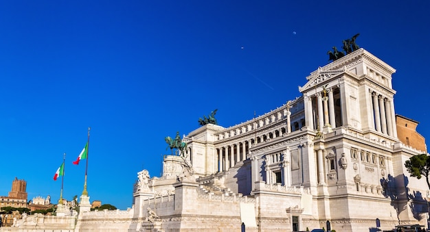
{"type": "Polygon", "coordinates": [[[376,131],[394,136],[391,102],[387,97],[375,91],[372,91],[371,94],[376,131]]]}

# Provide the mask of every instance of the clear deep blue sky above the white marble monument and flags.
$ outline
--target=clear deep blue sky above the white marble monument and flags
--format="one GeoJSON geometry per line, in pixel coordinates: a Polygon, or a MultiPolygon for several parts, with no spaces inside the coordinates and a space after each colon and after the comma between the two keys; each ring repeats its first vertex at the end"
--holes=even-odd
{"type": "Polygon", "coordinates": [[[430,138],[430,1],[0,1],[0,195],[88,192],[131,207],[137,172],[159,176],[164,137],[218,109],[229,127],[300,96],[331,47],[396,68],[396,114],[430,138]]]}

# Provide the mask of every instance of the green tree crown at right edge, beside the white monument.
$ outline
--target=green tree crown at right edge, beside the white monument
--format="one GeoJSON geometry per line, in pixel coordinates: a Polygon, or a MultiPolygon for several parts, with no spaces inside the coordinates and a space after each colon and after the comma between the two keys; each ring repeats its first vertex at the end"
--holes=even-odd
{"type": "Polygon", "coordinates": [[[427,154],[414,155],[413,157],[410,157],[409,160],[405,162],[405,167],[409,174],[411,174],[411,177],[421,179],[421,177],[424,176],[427,186],[430,189],[430,158],[427,154]]]}

